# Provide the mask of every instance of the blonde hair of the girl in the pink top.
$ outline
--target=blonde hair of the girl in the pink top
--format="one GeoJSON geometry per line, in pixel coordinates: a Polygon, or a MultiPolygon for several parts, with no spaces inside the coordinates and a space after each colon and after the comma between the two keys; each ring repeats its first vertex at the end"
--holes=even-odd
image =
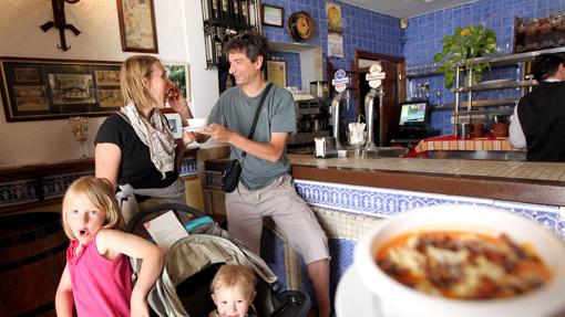
{"type": "Polygon", "coordinates": [[[96,207],[97,209],[104,211],[105,219],[103,226],[112,228],[115,230],[124,230],[125,222],[120,211],[120,207],[117,205],[117,201],[115,199],[112,183],[104,178],[95,178],[95,177],[81,177],[75,180],[71,186],[66,189],[63,198],[63,210],[62,210],[62,219],[63,219],[63,229],[64,233],[69,239],[76,239],[69,225],[69,221],[66,219],[66,212],[70,209],[70,203],[76,197],[84,194],[86,198],[96,207]]]}

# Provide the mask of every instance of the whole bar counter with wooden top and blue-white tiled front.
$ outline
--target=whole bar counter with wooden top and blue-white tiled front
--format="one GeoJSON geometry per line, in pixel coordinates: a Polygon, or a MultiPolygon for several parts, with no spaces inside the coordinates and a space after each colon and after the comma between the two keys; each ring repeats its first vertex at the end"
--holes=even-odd
{"type": "MultiPolygon", "coordinates": [[[[357,242],[382,219],[419,207],[473,204],[514,212],[565,240],[565,163],[289,155],[297,192],[328,236],[331,281],[353,262],[357,242]]],[[[222,172],[205,162],[206,210],[225,214],[222,172]]],[[[310,289],[305,265],[280,229],[266,221],[261,256],[288,289],[310,289]],[[284,256],[281,256],[284,254],[284,256]]],[[[332,284],[333,285],[333,284],[332,284]]],[[[335,289],[332,288],[332,293],[335,289]]],[[[310,294],[314,296],[314,294],[310,294]]]]}

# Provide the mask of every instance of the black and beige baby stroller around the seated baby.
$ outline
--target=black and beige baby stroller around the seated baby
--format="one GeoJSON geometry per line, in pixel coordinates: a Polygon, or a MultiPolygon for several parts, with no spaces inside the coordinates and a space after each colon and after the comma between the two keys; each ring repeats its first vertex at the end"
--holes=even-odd
{"type": "MultiPolygon", "coordinates": [[[[150,290],[147,302],[158,316],[206,317],[216,306],[209,285],[224,264],[243,264],[257,277],[257,295],[248,316],[300,317],[310,309],[308,295],[298,290],[281,290],[282,285],[267,264],[229,236],[206,214],[183,204],[163,203],[140,211],[127,224],[126,232],[145,235],[138,224],[172,210],[188,213],[189,235],[175,242],[166,252],[163,272],[150,290]]],[[[141,261],[132,261],[138,272],[141,261]]]]}

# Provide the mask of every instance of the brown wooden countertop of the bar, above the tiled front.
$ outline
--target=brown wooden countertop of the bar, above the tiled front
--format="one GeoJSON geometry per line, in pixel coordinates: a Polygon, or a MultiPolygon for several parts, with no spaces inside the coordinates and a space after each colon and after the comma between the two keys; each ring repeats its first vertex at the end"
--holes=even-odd
{"type": "Polygon", "coordinates": [[[565,163],[289,155],[297,180],[565,205],[565,163]]]}

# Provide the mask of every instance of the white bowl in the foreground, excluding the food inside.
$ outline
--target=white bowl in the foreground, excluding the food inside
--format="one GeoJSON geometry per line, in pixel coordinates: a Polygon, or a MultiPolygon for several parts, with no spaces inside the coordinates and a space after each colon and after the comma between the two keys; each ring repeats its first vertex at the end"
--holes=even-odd
{"type": "Polygon", "coordinates": [[[525,216],[490,207],[442,204],[414,209],[381,221],[356,246],[355,270],[380,300],[387,317],[536,317],[555,316],[565,307],[565,244],[551,230],[525,216]],[[408,287],[377,265],[377,254],[391,240],[413,232],[458,231],[527,244],[552,273],[542,286],[497,299],[453,299],[408,287]]]}

